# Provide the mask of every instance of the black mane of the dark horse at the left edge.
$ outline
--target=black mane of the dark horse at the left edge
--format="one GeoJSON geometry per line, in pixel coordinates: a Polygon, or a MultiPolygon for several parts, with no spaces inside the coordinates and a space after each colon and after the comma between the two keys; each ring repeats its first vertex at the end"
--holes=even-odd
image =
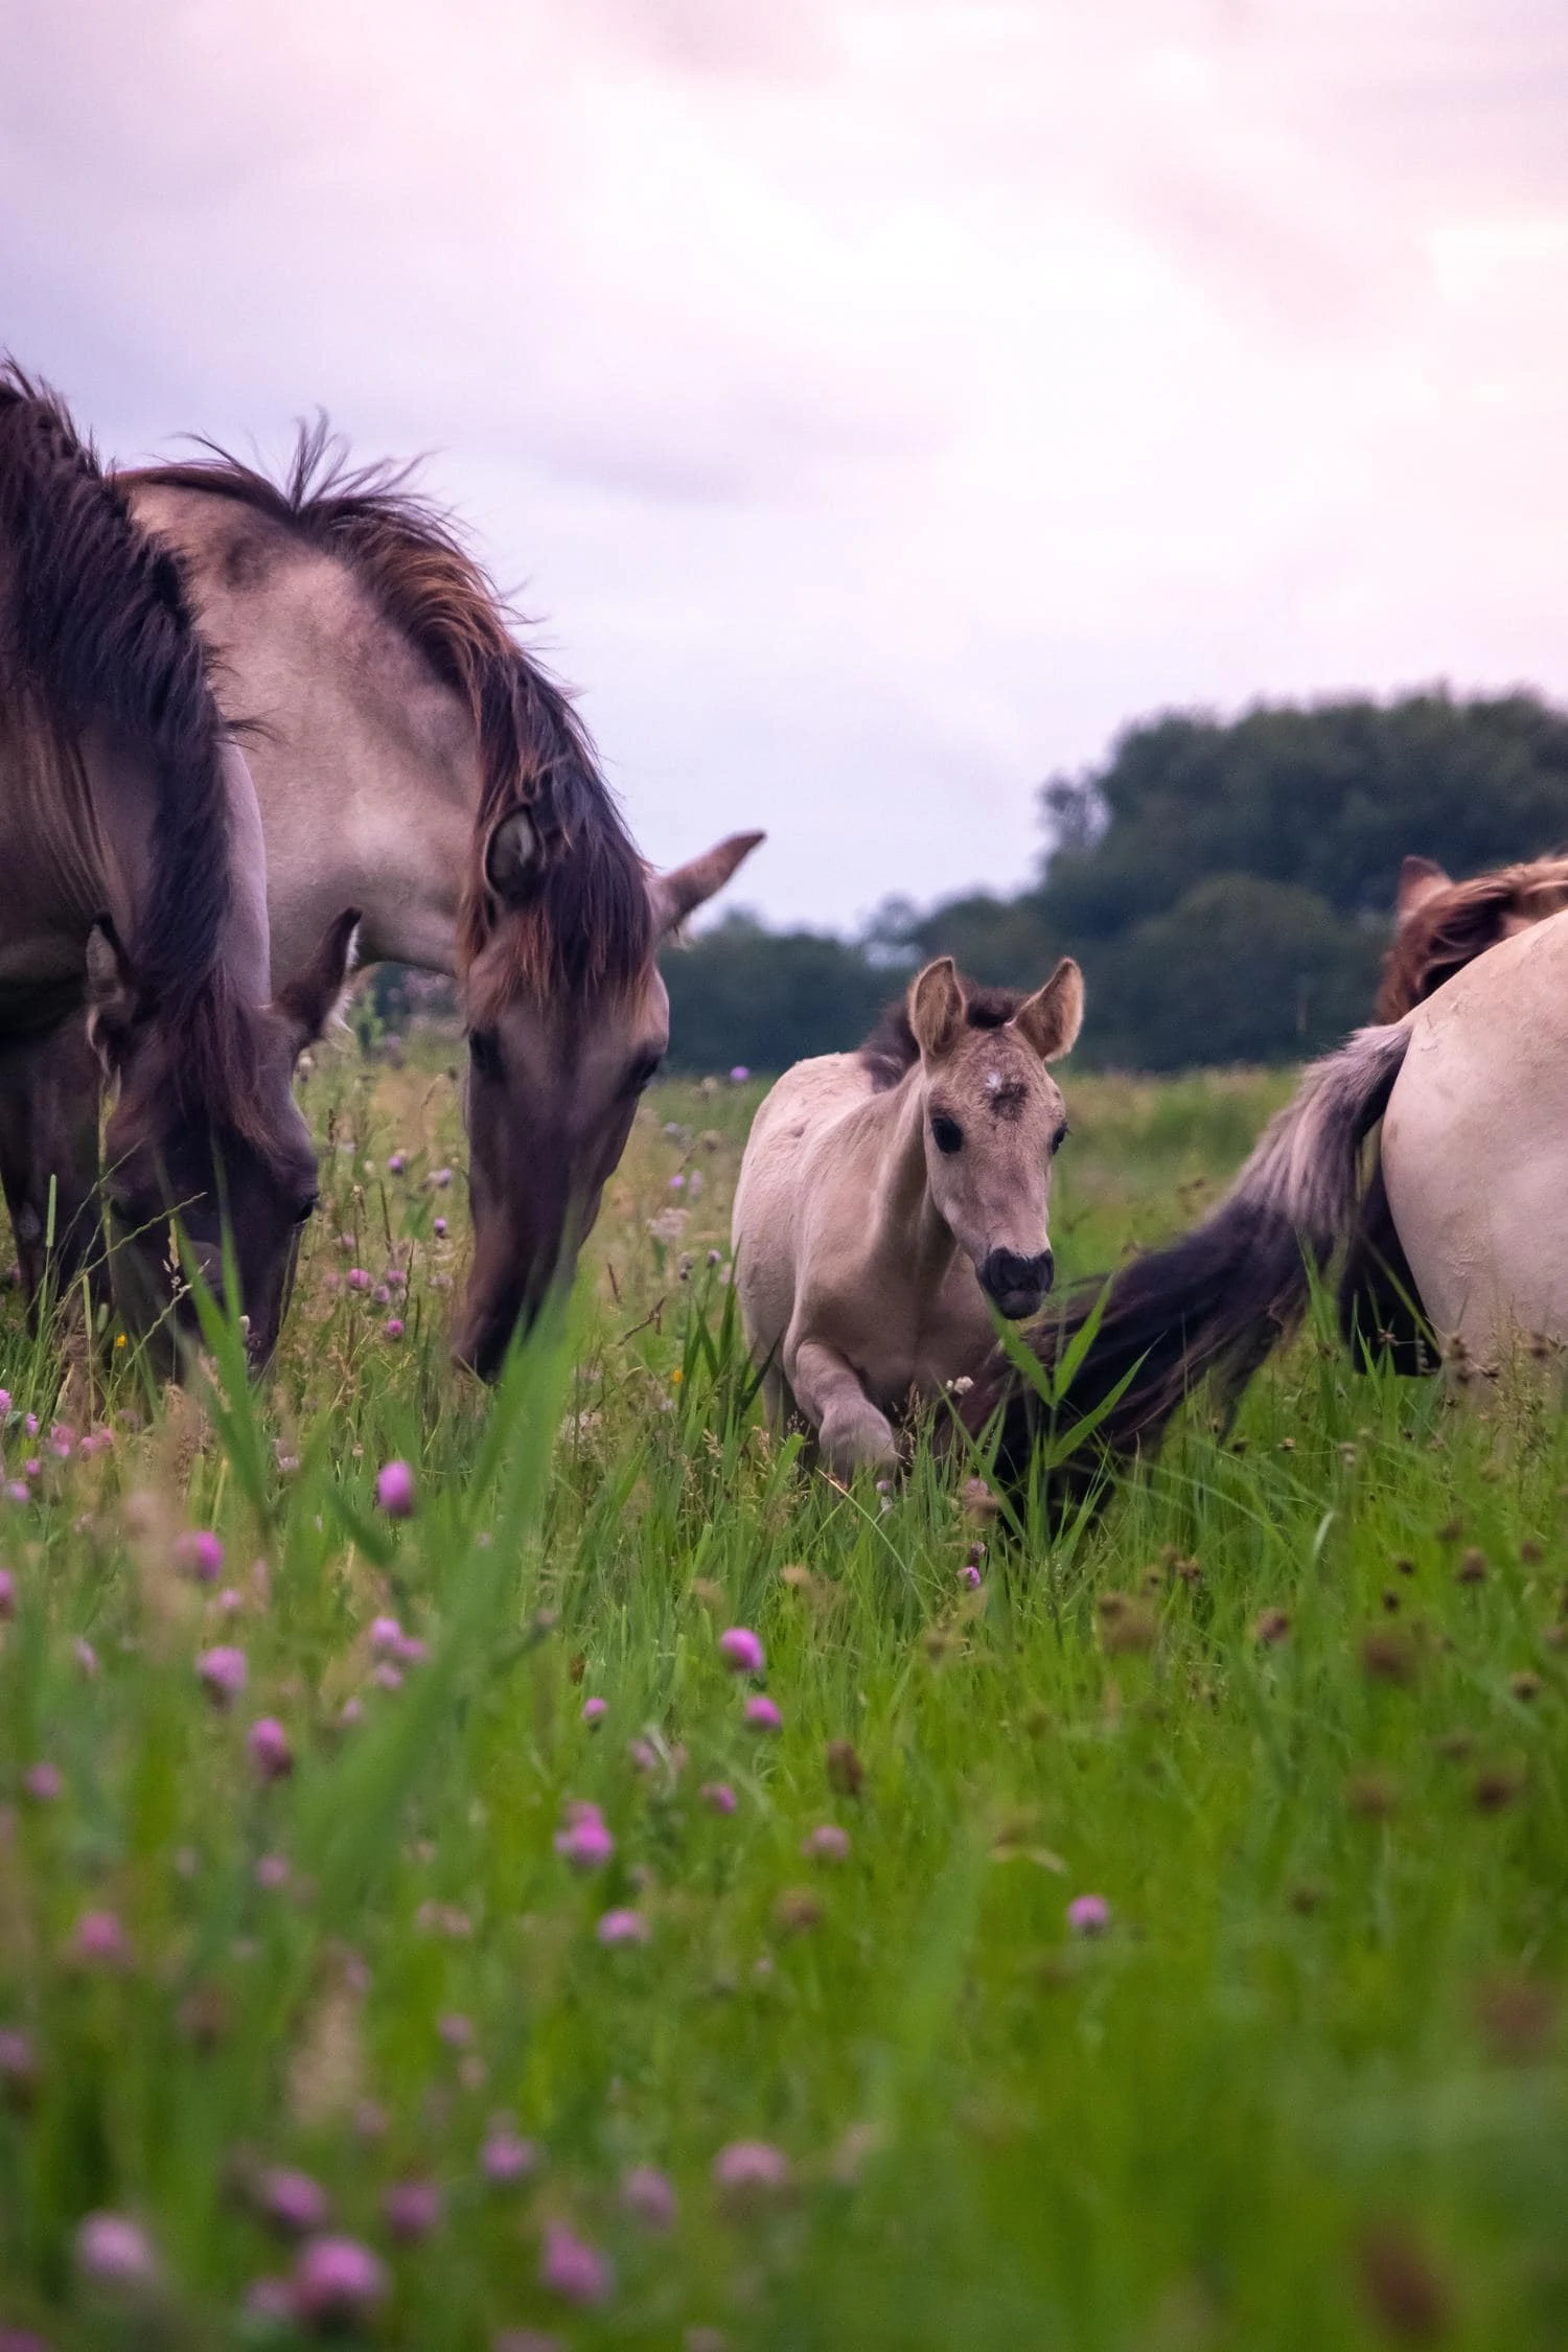
{"type": "Polygon", "coordinates": [[[132,517],[63,400],[0,362],[0,541],[12,560],[5,659],[49,724],[108,727],[158,781],[150,887],[127,953],[186,1105],[256,1131],[252,1016],[221,950],[233,901],[223,720],[174,557],[132,517]]]}

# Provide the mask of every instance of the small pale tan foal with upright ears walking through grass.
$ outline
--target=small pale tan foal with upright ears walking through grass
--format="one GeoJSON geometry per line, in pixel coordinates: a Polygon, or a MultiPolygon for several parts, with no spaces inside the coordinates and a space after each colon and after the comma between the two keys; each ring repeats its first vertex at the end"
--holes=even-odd
{"type": "Polygon", "coordinates": [[[736,1289],[776,1418],[799,1406],[849,1477],[898,1458],[893,1418],[976,1371],[992,1308],[1051,1289],[1051,1160],[1067,1134],[1046,1063],[1084,1018],[1063,960],[1032,997],[971,988],[945,955],[858,1054],[788,1070],[736,1185],[736,1289]]]}

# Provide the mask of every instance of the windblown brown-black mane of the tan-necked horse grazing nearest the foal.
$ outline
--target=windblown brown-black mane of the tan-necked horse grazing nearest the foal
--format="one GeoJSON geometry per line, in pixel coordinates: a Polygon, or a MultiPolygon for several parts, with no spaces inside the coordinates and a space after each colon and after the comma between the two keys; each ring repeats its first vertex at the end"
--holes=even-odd
{"type": "Polygon", "coordinates": [[[386,619],[463,696],[480,743],[480,807],[458,920],[458,969],[503,934],[487,971],[496,1007],[515,988],[595,995],[635,985],[654,953],[646,870],[564,687],[512,633],[512,612],[451,513],[411,487],[411,466],[353,466],[324,416],[299,428],[280,482],[202,442],[207,456],[127,482],[233,499],[339,557],[386,619]],[[541,858],[520,906],[484,880],[501,818],[527,809],[541,858]],[[508,920],[510,917],[510,920],[508,920]]]}

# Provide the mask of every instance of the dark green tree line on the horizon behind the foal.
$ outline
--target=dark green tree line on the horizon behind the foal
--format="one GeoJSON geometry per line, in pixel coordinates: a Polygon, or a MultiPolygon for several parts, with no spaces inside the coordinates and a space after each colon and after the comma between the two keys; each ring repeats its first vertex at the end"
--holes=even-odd
{"type": "Polygon", "coordinates": [[[729,915],[665,955],[672,1063],[783,1070],[853,1047],[931,955],[1018,988],[1077,955],[1081,1063],[1324,1051],[1371,1016],[1410,851],[1472,875],[1568,844],[1568,713],[1443,689],[1161,713],[1051,776],[1039,811],[1039,873],[1013,896],[889,901],[860,938],[729,915]]]}

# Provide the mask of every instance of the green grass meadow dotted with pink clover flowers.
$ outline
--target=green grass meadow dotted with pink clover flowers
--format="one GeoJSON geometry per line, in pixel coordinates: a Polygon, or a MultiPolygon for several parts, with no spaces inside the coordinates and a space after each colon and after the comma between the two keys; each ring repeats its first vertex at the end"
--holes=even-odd
{"type": "MultiPolygon", "coordinates": [[[[1070,1270],[1286,1091],[1067,1077],[1070,1270]]],[[[437,1068],[310,1080],[266,1392],[5,1308],[0,2345],[1563,2345],[1563,1423],[1309,1334],[1056,1548],[842,1494],[710,1256],[757,1094],[496,1397],[437,1068]]]]}

